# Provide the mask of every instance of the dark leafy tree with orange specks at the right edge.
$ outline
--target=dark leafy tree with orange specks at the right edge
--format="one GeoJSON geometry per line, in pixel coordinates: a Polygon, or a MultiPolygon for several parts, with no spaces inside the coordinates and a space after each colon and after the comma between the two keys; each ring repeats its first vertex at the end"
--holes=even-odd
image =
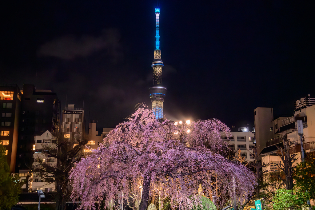
{"type": "Polygon", "coordinates": [[[295,184],[302,190],[308,190],[311,198],[315,198],[315,155],[307,154],[304,162],[299,163],[295,170],[295,184]]]}

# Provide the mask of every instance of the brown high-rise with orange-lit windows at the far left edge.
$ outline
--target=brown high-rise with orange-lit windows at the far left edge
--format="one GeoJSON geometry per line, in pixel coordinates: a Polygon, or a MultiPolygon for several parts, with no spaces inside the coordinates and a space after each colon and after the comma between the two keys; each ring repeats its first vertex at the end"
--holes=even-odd
{"type": "Polygon", "coordinates": [[[15,170],[21,97],[22,92],[16,84],[0,84],[0,144],[6,149],[11,173],[15,170]]]}

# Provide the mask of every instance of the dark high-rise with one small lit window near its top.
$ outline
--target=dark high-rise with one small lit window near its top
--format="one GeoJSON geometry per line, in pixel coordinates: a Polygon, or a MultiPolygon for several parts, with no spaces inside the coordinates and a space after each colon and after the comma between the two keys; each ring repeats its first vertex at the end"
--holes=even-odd
{"type": "Polygon", "coordinates": [[[58,131],[60,101],[51,90],[38,90],[33,84],[23,85],[19,139],[15,172],[31,168],[34,162],[35,136],[47,130],[58,131]]]}

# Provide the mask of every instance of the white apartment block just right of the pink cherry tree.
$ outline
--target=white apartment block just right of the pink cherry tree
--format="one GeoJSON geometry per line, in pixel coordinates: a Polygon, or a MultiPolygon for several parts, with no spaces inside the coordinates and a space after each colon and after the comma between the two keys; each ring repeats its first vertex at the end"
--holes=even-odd
{"type": "Polygon", "coordinates": [[[221,132],[222,140],[226,141],[231,149],[241,150],[241,156],[244,157],[246,161],[253,161],[254,157],[251,155],[251,153],[253,152],[253,148],[255,148],[255,144],[253,144],[254,133],[231,132],[231,135],[231,137],[227,138],[225,133],[221,132]]]}

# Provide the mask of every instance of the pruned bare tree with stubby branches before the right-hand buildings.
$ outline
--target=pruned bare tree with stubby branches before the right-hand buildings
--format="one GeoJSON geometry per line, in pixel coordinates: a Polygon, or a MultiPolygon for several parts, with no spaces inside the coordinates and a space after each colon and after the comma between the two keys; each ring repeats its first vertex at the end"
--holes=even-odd
{"type": "Polygon", "coordinates": [[[281,176],[279,176],[279,179],[282,179],[285,183],[285,188],[287,190],[293,189],[293,178],[292,178],[292,165],[297,160],[295,158],[296,154],[290,155],[290,146],[294,143],[290,142],[289,139],[287,139],[286,136],[282,138],[283,140],[283,148],[277,146],[277,149],[279,150],[277,152],[277,155],[281,158],[282,162],[280,162],[280,165],[278,167],[284,172],[285,179],[282,179],[281,176]]]}

